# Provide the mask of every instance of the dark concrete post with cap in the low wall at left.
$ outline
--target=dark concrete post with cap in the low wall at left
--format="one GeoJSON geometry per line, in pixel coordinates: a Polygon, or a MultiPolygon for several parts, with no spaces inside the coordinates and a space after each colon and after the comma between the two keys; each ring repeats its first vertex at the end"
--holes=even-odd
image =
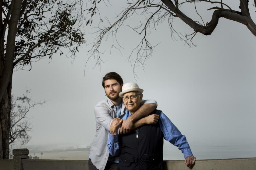
{"type": "Polygon", "coordinates": [[[28,149],[13,149],[12,154],[13,170],[22,170],[21,159],[29,159],[28,149]]]}

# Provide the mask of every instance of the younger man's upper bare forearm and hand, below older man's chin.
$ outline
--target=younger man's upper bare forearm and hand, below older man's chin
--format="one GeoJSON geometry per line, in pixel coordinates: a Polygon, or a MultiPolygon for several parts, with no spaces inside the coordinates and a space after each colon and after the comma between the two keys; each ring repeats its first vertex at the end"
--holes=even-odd
{"type": "Polygon", "coordinates": [[[150,114],[156,109],[156,104],[143,104],[139,110],[134,114],[130,115],[128,119],[131,119],[133,122],[137,121],[139,118],[150,114]]]}

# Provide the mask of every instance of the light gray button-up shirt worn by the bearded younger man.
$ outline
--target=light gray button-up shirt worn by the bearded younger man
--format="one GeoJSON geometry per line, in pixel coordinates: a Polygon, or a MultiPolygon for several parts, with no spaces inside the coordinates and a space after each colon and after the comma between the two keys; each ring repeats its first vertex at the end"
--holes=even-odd
{"type": "MultiPolygon", "coordinates": [[[[142,100],[141,104],[156,104],[155,100],[142,100]]],[[[121,115],[126,113],[126,108],[122,102],[121,115]]],[[[116,107],[112,101],[107,98],[101,100],[94,107],[96,121],[96,135],[91,143],[90,158],[94,166],[99,170],[104,170],[108,161],[108,132],[113,118],[116,118],[116,107]]]]}

